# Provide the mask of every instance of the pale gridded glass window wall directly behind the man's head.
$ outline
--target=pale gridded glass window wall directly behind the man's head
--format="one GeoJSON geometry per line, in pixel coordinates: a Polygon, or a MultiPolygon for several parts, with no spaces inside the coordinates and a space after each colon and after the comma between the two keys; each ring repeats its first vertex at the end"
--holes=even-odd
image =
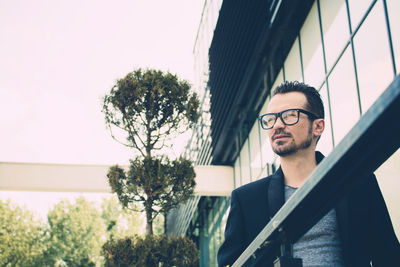
{"type": "MultiPolygon", "coordinates": [[[[400,43],[393,28],[400,20],[391,18],[400,11],[400,2],[366,2],[315,1],[272,86],[298,80],[319,90],[326,129],[317,150],[325,155],[398,74],[399,51],[394,48],[400,43]]],[[[259,115],[267,105],[268,98],[259,115]]],[[[235,186],[267,176],[277,160],[266,132],[254,121],[235,161],[235,186]]]]}

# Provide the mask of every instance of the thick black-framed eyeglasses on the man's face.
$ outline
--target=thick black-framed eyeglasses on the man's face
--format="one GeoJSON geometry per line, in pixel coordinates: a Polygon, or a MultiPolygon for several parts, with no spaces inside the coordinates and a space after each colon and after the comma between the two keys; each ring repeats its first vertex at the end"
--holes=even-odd
{"type": "Polygon", "coordinates": [[[278,117],[281,118],[281,121],[285,125],[294,125],[298,123],[300,113],[306,114],[312,120],[318,118],[316,115],[307,110],[295,108],[295,109],[287,109],[279,113],[266,113],[258,117],[258,119],[260,120],[261,127],[264,130],[269,130],[272,129],[272,127],[274,127],[278,117]]]}

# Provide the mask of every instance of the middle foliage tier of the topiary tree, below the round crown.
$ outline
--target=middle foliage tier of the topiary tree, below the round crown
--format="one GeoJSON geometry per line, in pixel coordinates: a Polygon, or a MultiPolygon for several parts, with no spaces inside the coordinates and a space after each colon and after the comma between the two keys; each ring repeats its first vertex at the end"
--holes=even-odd
{"type": "Polygon", "coordinates": [[[191,161],[179,158],[171,162],[165,157],[136,158],[130,161],[129,171],[113,166],[107,174],[121,204],[132,208],[134,202],[141,203],[148,224],[193,195],[195,176],[191,161]]]}

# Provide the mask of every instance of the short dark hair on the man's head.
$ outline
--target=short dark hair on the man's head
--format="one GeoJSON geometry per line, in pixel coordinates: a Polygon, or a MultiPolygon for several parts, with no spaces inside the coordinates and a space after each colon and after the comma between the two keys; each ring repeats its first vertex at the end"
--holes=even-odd
{"type": "Polygon", "coordinates": [[[317,118],[323,119],[325,117],[324,104],[322,103],[321,95],[314,87],[309,86],[305,83],[298,81],[293,81],[293,82],[286,81],[275,88],[275,90],[271,94],[271,97],[290,92],[303,93],[307,99],[307,104],[305,108],[308,111],[314,113],[317,116],[317,118]]]}

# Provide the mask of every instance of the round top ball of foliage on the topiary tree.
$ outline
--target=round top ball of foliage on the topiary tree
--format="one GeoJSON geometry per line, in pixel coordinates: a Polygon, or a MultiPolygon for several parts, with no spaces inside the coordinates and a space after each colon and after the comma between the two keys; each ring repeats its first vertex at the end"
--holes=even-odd
{"type": "Polygon", "coordinates": [[[102,111],[115,140],[150,156],[197,122],[198,107],[188,82],[169,72],[138,69],[117,80],[102,111]],[[124,132],[127,142],[116,138],[113,129],[124,132]]]}

